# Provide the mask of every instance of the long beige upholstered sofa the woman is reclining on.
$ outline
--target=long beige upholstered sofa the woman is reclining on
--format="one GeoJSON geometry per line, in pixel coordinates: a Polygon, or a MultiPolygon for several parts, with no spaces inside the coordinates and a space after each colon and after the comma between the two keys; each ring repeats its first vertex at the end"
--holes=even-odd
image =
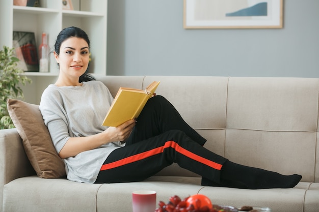
{"type": "MultiPolygon", "coordinates": [[[[283,174],[302,174],[292,189],[245,190],[200,185],[200,177],[172,165],[145,181],[81,184],[38,177],[16,129],[0,130],[2,211],[131,211],[131,192],[154,190],[159,200],[201,193],[213,203],[318,211],[319,141],[316,78],[207,76],[99,77],[116,94],[119,86],[145,88],[161,81],[165,96],[207,138],[205,147],[231,161],[283,174]]],[[[138,170],[137,170],[138,171],[138,170]]]]}

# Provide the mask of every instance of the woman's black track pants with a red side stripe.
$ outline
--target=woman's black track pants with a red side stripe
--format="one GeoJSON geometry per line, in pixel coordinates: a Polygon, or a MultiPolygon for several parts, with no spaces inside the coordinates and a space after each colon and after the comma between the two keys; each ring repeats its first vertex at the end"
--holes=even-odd
{"type": "Polygon", "coordinates": [[[172,163],[219,183],[227,159],[204,148],[205,142],[164,97],[152,97],[126,145],[105,160],[95,183],[141,181],[172,163]]]}

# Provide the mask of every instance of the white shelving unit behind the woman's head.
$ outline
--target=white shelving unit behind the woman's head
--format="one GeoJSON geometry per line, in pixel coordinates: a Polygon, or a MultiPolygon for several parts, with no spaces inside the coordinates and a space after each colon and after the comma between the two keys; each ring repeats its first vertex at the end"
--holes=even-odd
{"type": "MultiPolygon", "coordinates": [[[[34,32],[37,47],[42,32],[48,35],[48,45],[53,49],[60,31],[68,26],[77,26],[90,38],[93,75],[107,74],[107,0],[72,0],[73,10],[63,10],[62,0],[40,0],[41,7],[14,6],[13,0],[0,1],[0,47],[12,47],[13,31],[34,32]],[[59,1],[61,2],[59,4],[59,1]]],[[[24,101],[39,104],[43,90],[54,83],[59,74],[53,53],[50,53],[48,73],[24,72],[32,84],[23,87],[24,101]]]]}

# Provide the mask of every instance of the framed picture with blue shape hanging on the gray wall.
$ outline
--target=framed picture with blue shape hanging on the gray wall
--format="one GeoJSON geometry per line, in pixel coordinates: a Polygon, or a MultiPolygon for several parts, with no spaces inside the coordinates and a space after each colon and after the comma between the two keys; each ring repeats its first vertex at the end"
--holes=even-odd
{"type": "Polygon", "coordinates": [[[283,0],[184,0],[183,27],[282,28],[283,0]]]}

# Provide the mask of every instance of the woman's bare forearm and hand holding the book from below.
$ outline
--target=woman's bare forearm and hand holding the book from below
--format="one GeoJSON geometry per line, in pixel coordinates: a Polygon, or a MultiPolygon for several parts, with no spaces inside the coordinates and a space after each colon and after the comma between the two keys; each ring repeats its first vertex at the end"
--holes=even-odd
{"type": "Polygon", "coordinates": [[[128,120],[118,127],[109,127],[107,130],[87,136],[69,138],[66,144],[61,149],[60,158],[74,157],[79,153],[97,148],[105,143],[114,141],[124,141],[128,138],[135,126],[135,120],[128,120]]]}

